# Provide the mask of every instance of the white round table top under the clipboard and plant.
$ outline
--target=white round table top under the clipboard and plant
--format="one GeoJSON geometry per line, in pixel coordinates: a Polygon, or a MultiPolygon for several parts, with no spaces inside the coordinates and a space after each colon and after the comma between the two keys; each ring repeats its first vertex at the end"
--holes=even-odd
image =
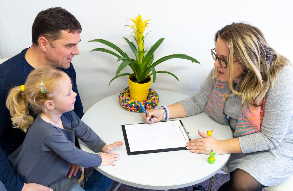
{"type": "MultiPolygon", "coordinates": [[[[159,106],[171,105],[176,101],[189,97],[186,94],[155,90],[159,95],[159,106]]],[[[134,113],[122,108],[119,103],[119,93],[102,99],[84,114],[82,121],[91,127],[107,144],[123,141],[121,125],[144,123],[142,113],[134,113]]],[[[200,138],[197,130],[206,133],[213,130],[217,140],[233,138],[228,125],[214,121],[206,112],[180,119],[190,138],[200,138]]],[[[81,149],[94,153],[86,144],[80,142],[81,149]]],[[[139,144],[139,143],[137,143],[139,144]]],[[[168,143],[166,143],[168,144],[168,143]]],[[[127,155],[123,145],[112,152],[120,154],[117,166],[94,167],[103,175],[126,185],[145,189],[176,189],[195,185],[215,175],[227,163],[230,154],[217,155],[215,164],[209,164],[209,155],[195,154],[190,150],[160,152],[150,154],[127,155]]],[[[217,152],[217,151],[214,151],[217,152]]]]}

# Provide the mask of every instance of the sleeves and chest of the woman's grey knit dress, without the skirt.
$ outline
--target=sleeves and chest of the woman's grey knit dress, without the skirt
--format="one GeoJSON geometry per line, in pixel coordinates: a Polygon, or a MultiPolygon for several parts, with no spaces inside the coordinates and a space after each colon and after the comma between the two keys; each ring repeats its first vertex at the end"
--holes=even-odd
{"type": "MultiPolygon", "coordinates": [[[[200,89],[191,97],[179,101],[186,116],[200,113],[205,109],[216,79],[212,78],[214,69],[209,73],[200,89]]],[[[258,133],[239,137],[243,153],[264,151],[278,146],[281,142],[293,142],[293,67],[285,66],[277,78],[276,84],[266,95],[264,116],[258,133]]],[[[234,90],[237,90],[235,85],[234,90]]],[[[229,116],[230,127],[236,129],[241,112],[241,97],[231,93],[224,107],[229,116]]]]}

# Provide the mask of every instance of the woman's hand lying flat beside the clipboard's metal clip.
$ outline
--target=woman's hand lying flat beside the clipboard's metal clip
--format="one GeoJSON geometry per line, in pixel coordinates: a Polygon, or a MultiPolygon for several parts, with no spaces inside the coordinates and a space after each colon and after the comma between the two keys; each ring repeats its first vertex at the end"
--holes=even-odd
{"type": "Polygon", "coordinates": [[[202,138],[188,141],[187,144],[185,144],[188,150],[191,150],[193,153],[202,154],[209,154],[209,152],[213,150],[216,155],[221,154],[222,151],[220,150],[220,141],[216,140],[212,136],[200,132],[199,130],[197,132],[202,138]]]}

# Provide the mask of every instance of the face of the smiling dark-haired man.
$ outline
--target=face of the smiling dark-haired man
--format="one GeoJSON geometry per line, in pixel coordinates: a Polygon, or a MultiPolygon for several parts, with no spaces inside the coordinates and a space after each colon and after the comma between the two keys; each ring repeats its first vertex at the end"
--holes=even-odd
{"type": "Polygon", "coordinates": [[[80,33],[62,30],[61,38],[48,44],[46,59],[52,67],[69,68],[74,55],[79,55],[77,44],[81,41],[80,33]]]}

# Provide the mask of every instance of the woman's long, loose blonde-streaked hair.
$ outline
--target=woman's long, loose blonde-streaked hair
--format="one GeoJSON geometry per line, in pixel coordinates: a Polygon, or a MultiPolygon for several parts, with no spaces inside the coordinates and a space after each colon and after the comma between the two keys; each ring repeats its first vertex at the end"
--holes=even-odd
{"type": "MultiPolygon", "coordinates": [[[[263,33],[246,23],[226,25],[215,34],[215,44],[220,38],[227,43],[227,67],[229,70],[229,87],[236,96],[241,96],[242,107],[260,105],[270,87],[275,85],[278,74],[290,61],[278,54],[265,41],[263,33]],[[233,59],[241,65],[243,77],[238,90],[232,88],[234,79],[233,59]]],[[[217,77],[217,69],[215,75],[217,77]]]]}

